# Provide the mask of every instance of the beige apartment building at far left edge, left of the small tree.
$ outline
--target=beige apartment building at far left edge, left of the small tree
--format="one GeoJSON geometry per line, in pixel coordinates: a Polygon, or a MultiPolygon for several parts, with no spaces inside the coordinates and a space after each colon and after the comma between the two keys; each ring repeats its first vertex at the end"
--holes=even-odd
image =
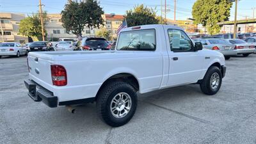
{"type": "Polygon", "coordinates": [[[28,43],[28,37],[19,34],[20,20],[24,19],[22,13],[0,13],[0,41],[28,43]],[[3,33],[2,33],[3,31],[3,33]]]}

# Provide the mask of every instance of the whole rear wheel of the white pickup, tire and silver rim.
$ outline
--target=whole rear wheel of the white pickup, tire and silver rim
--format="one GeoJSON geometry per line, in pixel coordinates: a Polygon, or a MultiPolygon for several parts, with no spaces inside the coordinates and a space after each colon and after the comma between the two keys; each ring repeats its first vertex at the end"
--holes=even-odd
{"type": "Polygon", "coordinates": [[[131,120],[137,108],[136,90],[128,83],[108,83],[97,97],[97,112],[106,124],[119,127],[131,120]]]}

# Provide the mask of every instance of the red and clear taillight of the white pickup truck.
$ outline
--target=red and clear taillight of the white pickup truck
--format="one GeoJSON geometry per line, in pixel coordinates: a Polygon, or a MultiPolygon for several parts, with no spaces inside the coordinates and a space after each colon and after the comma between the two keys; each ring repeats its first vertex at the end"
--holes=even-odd
{"type": "Polygon", "coordinates": [[[52,84],[55,86],[67,85],[67,72],[61,65],[51,65],[52,84]]]}

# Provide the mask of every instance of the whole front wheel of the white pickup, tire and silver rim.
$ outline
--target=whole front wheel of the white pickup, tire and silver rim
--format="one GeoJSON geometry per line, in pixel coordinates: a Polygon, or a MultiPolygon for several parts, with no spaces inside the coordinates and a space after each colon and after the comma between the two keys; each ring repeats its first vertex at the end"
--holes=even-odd
{"type": "Polygon", "coordinates": [[[222,75],[220,68],[212,66],[210,67],[200,83],[201,91],[207,95],[214,95],[220,90],[222,83],[222,75]]]}

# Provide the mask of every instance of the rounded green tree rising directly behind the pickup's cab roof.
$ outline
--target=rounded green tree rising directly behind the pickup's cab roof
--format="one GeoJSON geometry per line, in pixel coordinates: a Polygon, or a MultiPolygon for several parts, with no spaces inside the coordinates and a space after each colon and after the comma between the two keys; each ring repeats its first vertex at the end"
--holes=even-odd
{"type": "Polygon", "coordinates": [[[145,24],[159,24],[159,20],[156,18],[156,10],[147,8],[147,6],[143,4],[135,6],[133,10],[126,11],[125,19],[129,27],[145,24]]]}

